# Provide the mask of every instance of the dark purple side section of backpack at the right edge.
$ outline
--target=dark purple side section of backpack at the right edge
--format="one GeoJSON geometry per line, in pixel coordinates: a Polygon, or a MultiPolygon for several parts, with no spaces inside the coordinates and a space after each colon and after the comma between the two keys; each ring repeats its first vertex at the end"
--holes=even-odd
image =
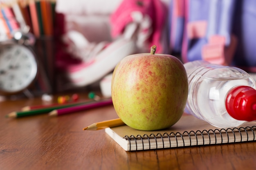
{"type": "Polygon", "coordinates": [[[238,0],[233,33],[238,37],[238,48],[232,65],[256,73],[256,0],[238,0]]]}

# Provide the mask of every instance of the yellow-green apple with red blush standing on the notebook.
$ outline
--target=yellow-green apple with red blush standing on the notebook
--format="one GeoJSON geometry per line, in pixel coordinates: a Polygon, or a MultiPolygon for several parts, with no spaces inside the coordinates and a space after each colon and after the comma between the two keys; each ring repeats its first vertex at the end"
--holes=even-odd
{"type": "Polygon", "coordinates": [[[114,108],[124,123],[138,130],[173,126],[182,116],[188,97],[188,79],[175,56],[139,53],[124,57],[111,81],[114,108]]]}

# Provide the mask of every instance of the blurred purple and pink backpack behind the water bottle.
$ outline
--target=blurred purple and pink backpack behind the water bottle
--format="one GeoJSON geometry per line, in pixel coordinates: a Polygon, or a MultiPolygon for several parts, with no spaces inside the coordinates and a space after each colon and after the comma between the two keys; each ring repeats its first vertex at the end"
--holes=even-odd
{"type": "Polygon", "coordinates": [[[256,72],[255,0],[171,0],[169,44],[182,62],[206,60],[256,72]]]}

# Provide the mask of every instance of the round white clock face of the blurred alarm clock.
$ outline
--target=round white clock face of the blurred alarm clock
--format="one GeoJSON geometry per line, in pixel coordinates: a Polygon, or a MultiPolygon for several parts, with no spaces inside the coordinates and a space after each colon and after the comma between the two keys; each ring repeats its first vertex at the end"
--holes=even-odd
{"type": "Polygon", "coordinates": [[[34,53],[26,46],[6,44],[0,47],[0,91],[22,91],[33,82],[36,74],[34,53]]]}

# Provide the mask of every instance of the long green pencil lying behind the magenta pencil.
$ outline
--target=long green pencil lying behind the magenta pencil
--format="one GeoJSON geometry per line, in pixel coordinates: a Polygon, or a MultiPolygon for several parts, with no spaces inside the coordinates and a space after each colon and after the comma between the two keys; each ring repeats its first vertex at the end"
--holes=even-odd
{"type": "Polygon", "coordinates": [[[78,102],[76,104],[67,104],[67,105],[60,105],[60,106],[53,106],[53,107],[47,107],[47,108],[40,108],[40,109],[34,109],[34,110],[28,110],[28,111],[20,111],[20,112],[11,112],[5,117],[25,117],[25,116],[31,116],[31,115],[39,115],[43,113],[49,113],[52,110],[60,109],[60,108],[68,108],[71,106],[78,106],[81,104],[90,104],[92,102],[95,102],[94,100],[89,102],[78,102]]]}

